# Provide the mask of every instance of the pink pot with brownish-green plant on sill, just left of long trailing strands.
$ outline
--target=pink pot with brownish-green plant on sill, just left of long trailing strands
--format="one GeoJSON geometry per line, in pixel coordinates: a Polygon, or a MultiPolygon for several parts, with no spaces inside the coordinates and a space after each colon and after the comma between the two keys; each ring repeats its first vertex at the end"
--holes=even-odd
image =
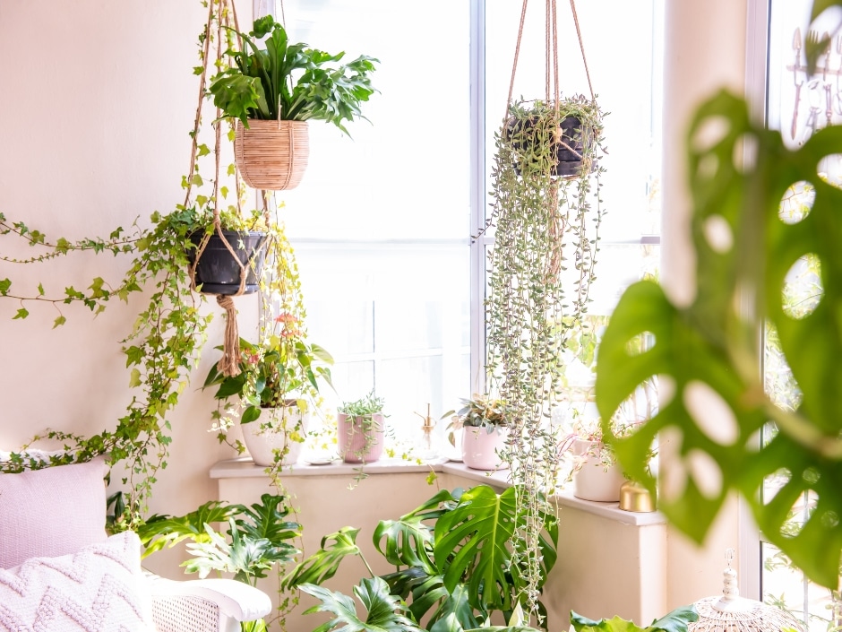
{"type": "Polygon", "coordinates": [[[476,393],[461,403],[451,429],[462,429],[462,462],[474,470],[508,467],[501,456],[509,437],[506,403],[476,393]]]}

